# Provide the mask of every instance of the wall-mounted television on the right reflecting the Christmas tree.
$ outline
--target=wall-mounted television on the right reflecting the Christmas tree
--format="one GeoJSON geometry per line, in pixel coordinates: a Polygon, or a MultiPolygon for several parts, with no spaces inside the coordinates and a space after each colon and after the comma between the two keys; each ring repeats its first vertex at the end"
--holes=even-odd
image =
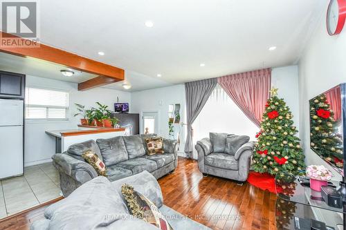
{"type": "Polygon", "coordinates": [[[346,84],[309,100],[310,148],[330,164],[345,181],[346,84]]]}

